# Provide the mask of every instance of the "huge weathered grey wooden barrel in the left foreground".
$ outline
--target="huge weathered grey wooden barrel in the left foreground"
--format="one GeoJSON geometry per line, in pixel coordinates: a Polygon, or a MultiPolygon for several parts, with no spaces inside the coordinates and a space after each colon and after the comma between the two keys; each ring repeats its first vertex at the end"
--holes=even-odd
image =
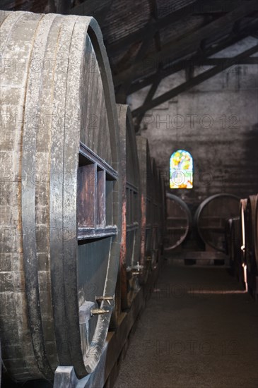
{"type": "Polygon", "coordinates": [[[98,364],[121,241],[119,128],[93,18],[1,13],[2,358],[15,380],[98,364]],[[99,308],[100,307],[100,308],[99,308]]]}

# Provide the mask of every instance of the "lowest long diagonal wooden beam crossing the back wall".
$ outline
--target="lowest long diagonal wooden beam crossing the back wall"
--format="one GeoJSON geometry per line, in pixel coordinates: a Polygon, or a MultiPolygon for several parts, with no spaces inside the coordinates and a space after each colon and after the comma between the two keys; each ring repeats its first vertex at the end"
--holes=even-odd
{"type": "Polygon", "coordinates": [[[250,49],[243,51],[241,54],[238,54],[236,56],[226,59],[222,64],[215,66],[208,71],[204,71],[204,73],[201,73],[200,75],[197,75],[194,78],[191,78],[191,80],[184,82],[177,87],[174,87],[168,92],[163,93],[163,95],[160,95],[155,99],[152,99],[151,101],[147,102],[143,106],[137,109],[134,109],[134,111],[132,111],[132,115],[136,117],[136,116],[141,116],[142,114],[145,114],[146,111],[154,107],[157,107],[160,104],[163,104],[163,102],[166,102],[169,99],[172,99],[173,97],[179,95],[182,92],[185,92],[186,90],[191,89],[196,85],[199,85],[200,83],[203,83],[205,80],[208,80],[214,75],[221,73],[221,71],[225,70],[226,68],[229,68],[230,66],[233,66],[235,63],[238,63],[240,59],[247,58],[252,54],[257,53],[257,51],[258,51],[258,44],[256,44],[254,47],[250,49]]]}

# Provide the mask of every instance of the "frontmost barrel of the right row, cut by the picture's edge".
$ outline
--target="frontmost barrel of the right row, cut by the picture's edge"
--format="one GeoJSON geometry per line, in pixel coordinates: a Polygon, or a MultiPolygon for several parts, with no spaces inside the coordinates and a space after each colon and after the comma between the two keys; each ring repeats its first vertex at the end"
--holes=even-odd
{"type": "Polygon", "coordinates": [[[256,219],[255,212],[257,207],[257,195],[250,195],[247,198],[246,217],[245,217],[245,262],[247,265],[247,284],[248,289],[253,294],[257,293],[256,277],[258,274],[258,259],[255,252],[256,240],[256,219]]]}

